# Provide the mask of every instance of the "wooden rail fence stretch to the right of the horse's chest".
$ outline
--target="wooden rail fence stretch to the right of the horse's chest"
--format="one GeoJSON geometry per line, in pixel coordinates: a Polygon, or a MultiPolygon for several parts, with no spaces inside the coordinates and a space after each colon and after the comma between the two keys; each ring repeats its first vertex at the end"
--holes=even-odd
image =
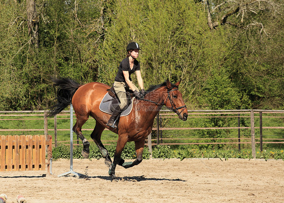
{"type": "MultiPolygon", "coordinates": [[[[160,114],[156,117],[156,144],[238,144],[239,150],[241,150],[241,144],[251,144],[252,146],[252,155],[256,157],[256,144],[260,144],[260,150],[263,150],[263,144],[283,144],[283,138],[273,138],[274,141],[268,141],[271,139],[263,139],[263,129],[284,129],[284,126],[263,126],[263,114],[283,114],[282,110],[193,110],[188,111],[192,116],[188,118],[238,118],[238,126],[235,127],[192,127],[192,128],[168,128],[162,127],[162,118],[174,118],[176,117],[173,113],[167,113],[169,111],[161,111],[160,114]],[[227,115],[235,115],[235,116],[227,116],[227,115]],[[248,114],[249,116],[245,116],[248,114]],[[255,127],[255,118],[259,114],[259,127],[255,127]],[[194,115],[194,116],[193,116],[194,115]],[[198,115],[198,116],[195,116],[198,115]],[[205,116],[206,115],[206,116],[205,116]],[[208,116],[210,115],[210,116],[208,116]],[[242,116],[241,116],[242,115],[242,116]],[[240,124],[240,118],[249,118],[250,119],[250,127],[242,127],[240,124]],[[238,138],[163,138],[163,131],[165,130],[224,130],[224,129],[238,129],[238,138]],[[251,133],[251,138],[241,138],[241,129],[248,129],[251,133]],[[255,129],[259,129],[259,138],[256,138],[255,129]],[[187,142],[187,143],[163,143],[163,140],[203,140],[202,142],[187,142]],[[204,142],[204,140],[214,140],[214,142],[204,142]],[[220,141],[218,141],[220,140],[220,141]],[[224,140],[228,140],[224,142],[224,140]],[[233,141],[238,140],[238,141],[233,141]],[[247,141],[246,141],[247,140],[247,141]],[[249,141],[250,140],[250,141],[249,141]],[[256,141],[258,140],[258,141],[256,141]]],[[[283,116],[268,116],[267,118],[277,118],[283,119],[283,116]]],[[[284,134],[282,134],[284,136],[284,134]]],[[[151,139],[151,135],[148,136],[148,139],[151,139]]],[[[149,143],[152,145],[153,143],[149,143]]],[[[149,146],[152,147],[152,146],[149,146]]]]}

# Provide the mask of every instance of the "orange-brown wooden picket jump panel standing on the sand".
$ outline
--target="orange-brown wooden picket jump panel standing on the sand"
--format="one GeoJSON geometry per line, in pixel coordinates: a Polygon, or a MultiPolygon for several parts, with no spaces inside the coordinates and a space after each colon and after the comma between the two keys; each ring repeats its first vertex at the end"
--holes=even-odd
{"type": "Polygon", "coordinates": [[[0,171],[38,171],[45,170],[47,165],[47,173],[51,173],[51,135],[47,140],[44,135],[2,135],[0,138],[0,171]]]}

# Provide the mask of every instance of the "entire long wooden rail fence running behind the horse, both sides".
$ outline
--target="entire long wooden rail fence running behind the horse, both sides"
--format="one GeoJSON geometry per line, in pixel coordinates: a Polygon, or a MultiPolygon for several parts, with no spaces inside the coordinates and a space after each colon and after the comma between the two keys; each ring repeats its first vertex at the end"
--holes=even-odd
{"type": "MultiPolygon", "coordinates": [[[[44,129],[0,129],[1,131],[38,131],[41,130],[44,132],[44,135],[48,135],[50,131],[54,133],[55,136],[55,145],[57,145],[57,133],[58,131],[70,131],[70,129],[58,129],[57,126],[57,120],[58,119],[69,119],[69,118],[60,118],[61,116],[70,115],[69,111],[63,111],[61,114],[56,116],[54,118],[54,129],[48,128],[48,118],[46,117],[46,112],[44,111],[13,111],[13,112],[0,112],[4,113],[4,115],[0,116],[9,116],[9,113],[16,113],[19,116],[27,116],[26,113],[31,113],[31,115],[35,115],[34,113],[41,113],[38,114],[38,116],[44,116],[41,117],[41,120],[43,120],[44,123],[44,129]],[[22,114],[21,114],[22,113],[22,114]]],[[[273,117],[276,119],[283,119],[283,116],[263,116],[265,114],[281,114],[283,115],[284,111],[280,110],[192,110],[188,111],[188,120],[189,119],[196,119],[196,118],[236,118],[238,119],[238,124],[236,126],[228,126],[228,127],[162,127],[162,120],[166,118],[177,118],[176,114],[169,112],[167,110],[162,110],[156,117],[156,126],[153,128],[153,133],[148,136],[148,140],[151,140],[151,142],[148,142],[149,148],[152,147],[152,145],[155,144],[238,144],[239,150],[241,147],[241,144],[251,144],[252,145],[252,153],[254,155],[255,153],[255,145],[260,144],[260,150],[262,151],[262,147],[264,143],[275,143],[275,144],[282,144],[284,143],[284,139],[274,139],[274,141],[271,141],[271,139],[263,138],[262,131],[263,129],[284,129],[284,126],[263,126],[263,118],[269,118],[273,117]],[[242,126],[240,123],[240,119],[242,118],[248,118],[250,119],[250,126],[242,126]],[[255,119],[258,119],[257,127],[255,126],[255,119]],[[170,131],[170,130],[179,130],[179,131],[191,131],[191,130],[221,130],[221,129],[236,129],[238,130],[238,137],[233,138],[165,138],[163,136],[163,132],[170,131]],[[250,131],[251,137],[241,137],[241,130],[248,130],[250,131]],[[259,131],[259,134],[256,137],[255,130],[259,131]],[[154,134],[155,133],[155,134],[154,134]],[[152,137],[155,136],[155,139],[152,139],[152,137]],[[258,137],[259,136],[259,137],[258,137]],[[204,140],[210,140],[208,142],[204,140]],[[218,140],[219,139],[219,140],[218,140]],[[186,142],[182,143],[172,143],[168,142],[165,143],[166,140],[186,140],[186,142]],[[190,140],[195,140],[192,142],[188,142],[190,140]],[[198,142],[198,140],[202,140],[201,142],[198,142]],[[212,141],[214,140],[214,141],[212,141]],[[270,141],[269,141],[270,140],[270,141]]],[[[0,119],[0,120],[8,120],[8,119],[0,119]]],[[[12,119],[9,119],[12,120],[12,119]]],[[[93,129],[82,129],[83,131],[89,130],[92,131],[93,129]]],[[[107,130],[107,129],[106,129],[107,130]]],[[[75,140],[74,140],[75,141],[75,140]]],[[[103,140],[103,142],[113,142],[115,140],[103,140]]],[[[77,142],[78,144],[79,142],[77,142]]],[[[74,143],[75,144],[75,143],[74,143]]]]}

